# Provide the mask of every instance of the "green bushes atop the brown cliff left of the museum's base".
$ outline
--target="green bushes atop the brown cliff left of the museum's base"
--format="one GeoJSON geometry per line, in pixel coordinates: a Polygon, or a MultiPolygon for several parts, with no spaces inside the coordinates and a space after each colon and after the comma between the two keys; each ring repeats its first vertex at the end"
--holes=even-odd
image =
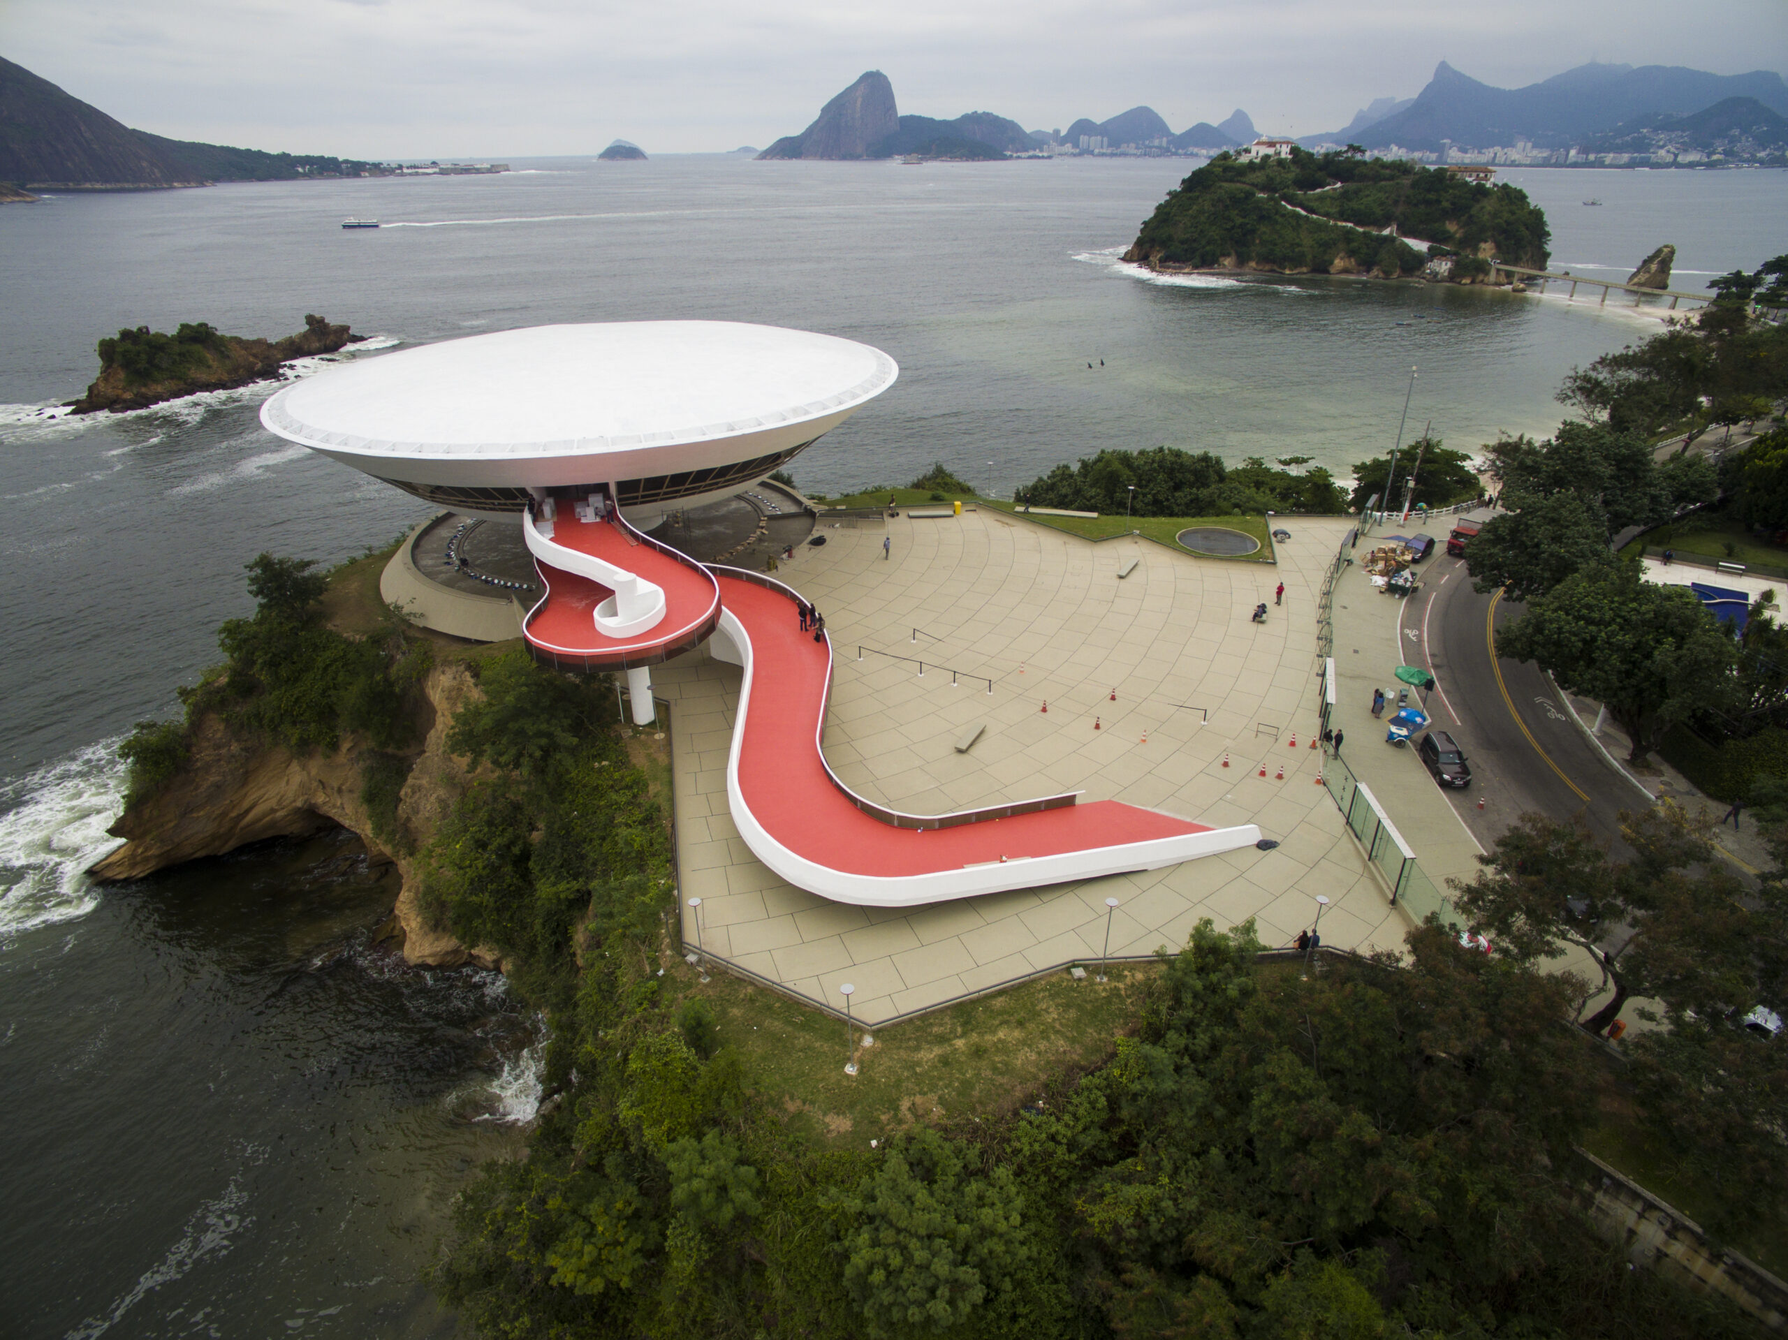
{"type": "Polygon", "coordinates": [[[383,609],[367,636],[331,627],[324,616],[329,577],[315,566],[272,554],[247,565],[256,613],[218,629],[224,665],[200,686],[181,690],[182,720],[143,722],[120,749],[131,765],[132,800],[179,772],[191,727],[206,711],[295,752],[336,749],[347,734],[381,750],[413,743],[433,645],[415,638],[393,609],[383,609]]]}

